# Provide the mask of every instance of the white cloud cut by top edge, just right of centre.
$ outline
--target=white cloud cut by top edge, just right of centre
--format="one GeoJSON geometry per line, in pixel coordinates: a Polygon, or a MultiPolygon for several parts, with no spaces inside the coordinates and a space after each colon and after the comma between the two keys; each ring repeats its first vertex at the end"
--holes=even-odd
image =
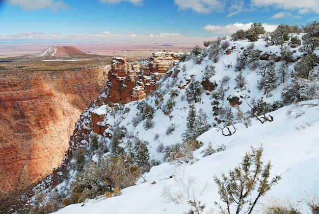
{"type": "Polygon", "coordinates": [[[211,11],[222,12],[225,1],[219,0],[175,0],[179,10],[191,9],[197,13],[210,13],[211,11]]]}

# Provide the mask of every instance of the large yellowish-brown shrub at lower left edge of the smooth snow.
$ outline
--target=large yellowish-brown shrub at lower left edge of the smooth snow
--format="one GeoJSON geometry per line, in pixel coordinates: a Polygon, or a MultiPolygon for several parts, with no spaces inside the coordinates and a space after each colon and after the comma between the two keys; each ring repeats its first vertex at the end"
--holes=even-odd
{"type": "Polygon", "coordinates": [[[133,164],[128,155],[107,155],[99,163],[85,165],[83,171],[76,175],[71,197],[65,203],[82,202],[105,191],[112,192],[116,186],[122,189],[134,185],[139,176],[140,168],[133,164]]]}

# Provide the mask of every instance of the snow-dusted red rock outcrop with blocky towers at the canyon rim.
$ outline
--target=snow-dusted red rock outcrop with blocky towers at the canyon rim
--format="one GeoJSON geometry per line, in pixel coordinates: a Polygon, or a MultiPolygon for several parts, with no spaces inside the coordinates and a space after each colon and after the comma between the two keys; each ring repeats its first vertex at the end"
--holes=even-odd
{"type": "Polygon", "coordinates": [[[178,53],[154,53],[147,65],[139,62],[126,62],[125,57],[113,57],[108,82],[104,89],[104,103],[129,103],[146,98],[155,91],[155,82],[179,60],[178,53]]]}

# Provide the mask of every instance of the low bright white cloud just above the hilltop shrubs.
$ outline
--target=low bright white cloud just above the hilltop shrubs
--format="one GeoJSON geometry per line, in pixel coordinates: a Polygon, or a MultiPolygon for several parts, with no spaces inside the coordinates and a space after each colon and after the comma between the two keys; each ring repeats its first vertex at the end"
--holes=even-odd
{"type": "MultiPolygon", "coordinates": [[[[250,26],[252,25],[252,22],[249,23],[240,23],[236,22],[229,25],[206,25],[204,27],[205,31],[211,31],[216,34],[232,34],[235,33],[238,30],[248,30],[250,26]]],[[[268,23],[262,23],[262,26],[264,27],[265,31],[274,31],[278,25],[269,25],[268,23]]]]}

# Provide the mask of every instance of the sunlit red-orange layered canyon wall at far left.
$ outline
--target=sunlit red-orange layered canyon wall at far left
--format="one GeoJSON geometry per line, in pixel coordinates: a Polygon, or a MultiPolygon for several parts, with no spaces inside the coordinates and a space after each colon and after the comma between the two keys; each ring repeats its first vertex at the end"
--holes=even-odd
{"type": "Polygon", "coordinates": [[[0,199],[61,164],[74,123],[102,90],[102,69],[0,71],[0,199]]]}

